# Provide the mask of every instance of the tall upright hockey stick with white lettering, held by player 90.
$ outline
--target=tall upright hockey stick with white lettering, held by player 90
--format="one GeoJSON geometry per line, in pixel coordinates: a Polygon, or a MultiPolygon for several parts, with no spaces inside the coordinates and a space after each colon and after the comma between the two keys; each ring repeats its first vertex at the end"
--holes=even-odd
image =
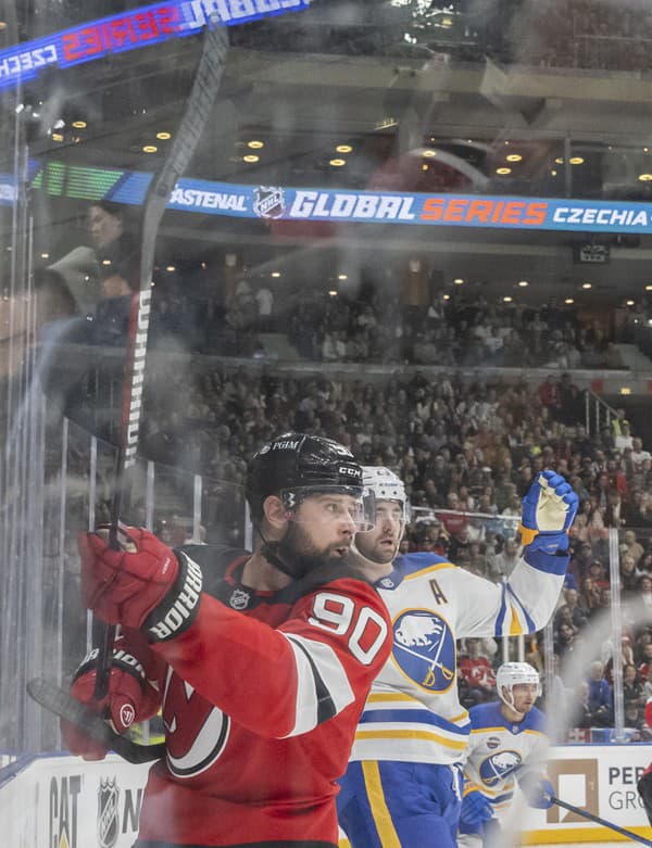
{"type": "MultiPolygon", "coordinates": [[[[143,203],[140,255],[140,291],[134,299],[129,321],[129,339],[124,378],[122,427],[116,456],[115,481],[111,504],[111,530],[109,544],[118,548],[117,524],[125,492],[125,471],[136,463],[138,429],[145,382],[145,359],[151,301],[151,280],[154,267],[156,233],[170,195],[177,179],[188,167],[197,144],[204,131],[217,98],[226,65],[228,37],[222,26],[209,24],[195,73],[192,88],[170,154],[154,175],[143,203]]],[[[101,700],[109,691],[109,676],[113,659],[115,626],[96,622],[98,647],[97,673],[93,696],[101,700]]]]}

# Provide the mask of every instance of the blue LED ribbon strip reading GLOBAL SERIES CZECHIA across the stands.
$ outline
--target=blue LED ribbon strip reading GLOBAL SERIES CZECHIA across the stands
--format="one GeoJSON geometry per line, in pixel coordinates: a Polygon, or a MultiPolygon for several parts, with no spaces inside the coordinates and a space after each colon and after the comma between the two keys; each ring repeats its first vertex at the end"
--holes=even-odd
{"type": "MultiPolygon", "coordinates": [[[[151,174],[32,163],[32,187],[54,197],[142,203],[151,174]]],[[[11,175],[0,175],[0,204],[11,204],[11,175]]],[[[178,212],[266,220],[404,224],[578,232],[652,232],[652,204],[488,194],[427,194],[179,179],[167,207],[178,212]]]]}

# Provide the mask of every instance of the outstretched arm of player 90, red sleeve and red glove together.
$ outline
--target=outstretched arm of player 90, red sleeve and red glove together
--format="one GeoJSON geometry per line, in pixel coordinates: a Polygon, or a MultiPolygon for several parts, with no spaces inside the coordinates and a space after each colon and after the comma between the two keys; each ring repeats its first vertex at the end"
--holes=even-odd
{"type": "Polygon", "coordinates": [[[139,629],[192,689],[262,736],[313,730],[364,698],[391,646],[376,591],[344,578],[302,597],[281,629],[250,619],[202,591],[200,566],[147,530],[135,552],[103,535],[80,537],[90,609],[139,629]]]}

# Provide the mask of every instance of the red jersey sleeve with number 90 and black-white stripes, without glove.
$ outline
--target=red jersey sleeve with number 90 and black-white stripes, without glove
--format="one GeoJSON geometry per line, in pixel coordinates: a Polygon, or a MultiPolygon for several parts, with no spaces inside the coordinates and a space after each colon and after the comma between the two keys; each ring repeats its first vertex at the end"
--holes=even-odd
{"type": "Polygon", "coordinates": [[[277,629],[204,594],[192,625],[152,647],[260,736],[297,736],[366,698],[391,649],[377,592],[352,578],[311,590],[277,629]]]}

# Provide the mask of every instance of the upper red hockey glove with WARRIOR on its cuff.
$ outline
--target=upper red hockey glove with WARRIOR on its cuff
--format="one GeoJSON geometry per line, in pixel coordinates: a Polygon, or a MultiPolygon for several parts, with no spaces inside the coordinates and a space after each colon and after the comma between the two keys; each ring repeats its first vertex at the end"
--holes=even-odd
{"type": "Polygon", "coordinates": [[[109,547],[103,530],[79,535],[86,606],[110,624],[142,628],[152,642],[177,636],[199,609],[201,569],[148,530],[124,530],[128,549],[109,547]]]}

